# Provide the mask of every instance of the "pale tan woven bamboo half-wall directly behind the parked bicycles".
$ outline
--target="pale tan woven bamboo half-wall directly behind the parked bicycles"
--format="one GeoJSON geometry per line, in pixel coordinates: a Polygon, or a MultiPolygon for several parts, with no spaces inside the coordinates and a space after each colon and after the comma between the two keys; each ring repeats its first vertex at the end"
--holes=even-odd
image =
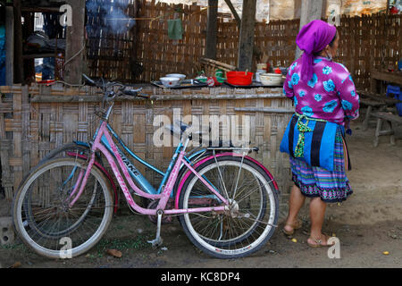
{"type": "MultiPolygon", "coordinates": [[[[94,112],[100,103],[86,99],[92,98],[89,94],[95,91],[87,87],[80,90],[65,89],[67,96],[60,96],[63,88],[3,87],[0,91],[13,95],[0,101],[2,179],[6,198],[11,199],[23,176],[50,150],[74,139],[88,141],[92,138],[98,124],[94,112]],[[54,98],[60,101],[63,97],[67,98],[65,101],[70,101],[68,95],[81,97],[76,102],[52,102],[56,101],[54,98]],[[40,101],[39,97],[42,101],[46,98],[47,102],[35,102],[40,101]]],[[[121,134],[121,139],[138,156],[161,169],[167,167],[173,147],[155,147],[153,138],[155,130],[160,126],[154,125],[158,115],[166,115],[173,122],[173,108],[178,108],[181,116],[247,115],[250,118],[251,145],[260,148],[259,153],[253,156],[272,171],[284,195],[281,202],[286,205],[291,184],[289,159],[279,152],[279,146],[293,108],[291,101],[281,96],[281,88],[203,88],[181,91],[149,88],[146,92],[154,95],[152,102],[117,101],[111,119],[113,129],[121,134]],[[230,97],[233,99],[228,100],[230,97]],[[236,110],[263,107],[278,112],[236,110]]],[[[145,170],[142,165],[136,165],[141,172],[146,173],[148,181],[154,185],[159,183],[159,175],[145,170]]]]}

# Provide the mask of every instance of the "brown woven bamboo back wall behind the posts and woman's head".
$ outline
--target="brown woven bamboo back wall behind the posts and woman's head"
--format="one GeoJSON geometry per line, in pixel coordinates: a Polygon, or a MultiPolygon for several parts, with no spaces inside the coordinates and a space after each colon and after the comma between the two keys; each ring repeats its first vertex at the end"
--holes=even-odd
{"type": "MultiPolygon", "coordinates": [[[[109,3],[105,0],[102,4],[109,3]]],[[[96,2],[98,3],[98,2],[96,2]]],[[[194,77],[205,54],[207,9],[198,5],[165,4],[147,0],[124,0],[124,13],[136,24],[126,33],[102,32],[102,13],[88,13],[88,73],[92,77],[124,82],[149,82],[170,72],[194,77]],[[168,38],[170,19],[181,19],[183,39],[168,38]],[[140,75],[139,72],[142,71],[140,75]]],[[[100,4],[100,2],[99,2],[100,4]]],[[[104,13],[105,14],[105,13],[104,13]]],[[[219,14],[217,60],[236,65],[239,29],[219,14]]],[[[402,56],[402,15],[341,16],[339,56],[352,73],[357,88],[370,86],[372,67],[388,68],[402,56]]],[[[258,22],[255,46],[269,56],[273,66],[287,67],[295,60],[299,20],[258,22]]],[[[107,30],[106,30],[107,31],[107,30]]]]}

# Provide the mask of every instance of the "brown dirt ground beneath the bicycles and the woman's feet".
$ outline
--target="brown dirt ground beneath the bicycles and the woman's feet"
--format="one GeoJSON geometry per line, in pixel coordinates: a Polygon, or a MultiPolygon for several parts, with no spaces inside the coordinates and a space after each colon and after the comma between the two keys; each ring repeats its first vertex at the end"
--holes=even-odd
{"type": "MultiPolygon", "coordinates": [[[[162,228],[163,247],[153,249],[147,240],[155,237],[155,225],[140,215],[118,215],[105,237],[87,254],[71,260],[47,259],[32,253],[16,240],[0,247],[0,267],[16,262],[21,267],[68,268],[267,268],[267,267],[401,267],[402,266],[402,128],[396,146],[382,137],[373,147],[374,126],[363,131],[361,122],[352,123],[353,136],[348,147],[353,170],[348,172],[354,194],[340,205],[329,205],[323,231],[340,241],[340,258],[329,258],[328,248],[309,248],[308,200],[300,218],[304,228],[290,240],[281,232],[283,222],[272,239],[251,257],[221,260],[199,252],[180,229],[180,223],[162,228]],[[295,242],[296,241],[296,242],[295,242]],[[116,248],[121,258],[106,254],[116,248]],[[388,251],[388,255],[383,252],[388,251]]],[[[7,215],[10,203],[0,200],[0,216],[7,215]]]]}

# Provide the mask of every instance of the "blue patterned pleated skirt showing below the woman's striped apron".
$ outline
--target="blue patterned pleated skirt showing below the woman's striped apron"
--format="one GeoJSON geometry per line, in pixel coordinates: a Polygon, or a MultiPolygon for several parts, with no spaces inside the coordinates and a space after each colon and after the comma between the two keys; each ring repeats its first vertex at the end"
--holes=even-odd
{"type": "Polygon", "coordinates": [[[335,139],[334,171],[312,167],[290,156],[292,180],[306,197],[320,197],[326,203],[344,201],[353,193],[345,172],[344,154],[344,142],[341,131],[338,130],[335,139]]]}

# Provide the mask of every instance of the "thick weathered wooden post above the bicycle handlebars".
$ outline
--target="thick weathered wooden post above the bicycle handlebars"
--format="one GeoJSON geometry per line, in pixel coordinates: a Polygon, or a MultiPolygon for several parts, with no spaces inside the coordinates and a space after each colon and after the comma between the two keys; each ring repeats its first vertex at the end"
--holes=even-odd
{"type": "Polygon", "coordinates": [[[84,70],[85,53],[85,1],[68,0],[72,7],[72,25],[67,27],[64,80],[71,84],[80,84],[84,70]]]}

